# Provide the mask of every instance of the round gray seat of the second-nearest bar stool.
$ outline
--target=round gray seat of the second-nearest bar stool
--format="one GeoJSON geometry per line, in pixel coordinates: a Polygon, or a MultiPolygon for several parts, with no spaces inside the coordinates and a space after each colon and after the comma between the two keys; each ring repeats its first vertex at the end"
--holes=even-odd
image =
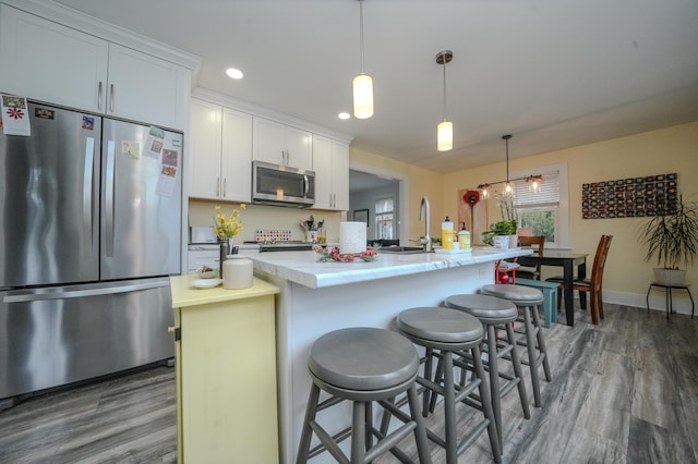
{"type": "Polygon", "coordinates": [[[443,345],[446,350],[458,350],[458,345],[479,342],[483,335],[482,323],[477,318],[462,317],[460,312],[442,307],[411,308],[400,313],[396,322],[406,335],[419,338],[437,349],[443,345]]]}

